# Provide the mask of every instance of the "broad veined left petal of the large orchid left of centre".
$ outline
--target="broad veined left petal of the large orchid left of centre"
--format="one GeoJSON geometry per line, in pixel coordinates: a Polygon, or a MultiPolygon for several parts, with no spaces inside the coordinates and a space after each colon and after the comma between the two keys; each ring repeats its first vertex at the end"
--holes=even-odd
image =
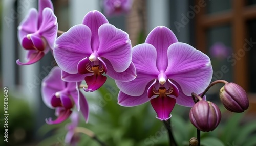
{"type": "Polygon", "coordinates": [[[91,49],[91,31],[85,25],[76,25],[57,38],[54,58],[59,67],[70,74],[76,74],[77,64],[89,57],[91,49]]]}

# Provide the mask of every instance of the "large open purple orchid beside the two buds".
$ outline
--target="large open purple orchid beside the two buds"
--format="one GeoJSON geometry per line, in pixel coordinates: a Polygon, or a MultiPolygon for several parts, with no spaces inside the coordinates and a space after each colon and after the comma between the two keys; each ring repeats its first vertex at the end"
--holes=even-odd
{"type": "Polygon", "coordinates": [[[211,81],[209,57],[178,42],[174,33],[164,26],[153,29],[145,43],[133,47],[132,51],[137,78],[130,82],[116,81],[120,88],[118,104],[122,106],[150,101],[156,117],[168,120],[176,103],[193,106],[191,93],[202,93],[211,81]]]}

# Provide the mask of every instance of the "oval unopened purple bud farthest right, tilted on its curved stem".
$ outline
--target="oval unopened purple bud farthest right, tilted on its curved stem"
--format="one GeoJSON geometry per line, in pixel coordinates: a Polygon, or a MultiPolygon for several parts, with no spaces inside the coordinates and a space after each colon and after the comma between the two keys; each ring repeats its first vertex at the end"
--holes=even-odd
{"type": "Polygon", "coordinates": [[[227,83],[220,90],[220,99],[231,112],[244,112],[249,107],[245,90],[235,83],[227,83]]]}

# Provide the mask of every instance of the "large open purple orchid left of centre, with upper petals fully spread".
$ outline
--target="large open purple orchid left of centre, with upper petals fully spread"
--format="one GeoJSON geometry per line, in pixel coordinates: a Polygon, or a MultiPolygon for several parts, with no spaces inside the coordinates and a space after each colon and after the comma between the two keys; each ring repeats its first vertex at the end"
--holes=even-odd
{"type": "Polygon", "coordinates": [[[68,82],[85,80],[94,91],[106,81],[103,73],[119,81],[136,78],[129,35],[110,25],[103,14],[91,11],[82,25],[73,26],[57,38],[54,57],[68,82]]]}

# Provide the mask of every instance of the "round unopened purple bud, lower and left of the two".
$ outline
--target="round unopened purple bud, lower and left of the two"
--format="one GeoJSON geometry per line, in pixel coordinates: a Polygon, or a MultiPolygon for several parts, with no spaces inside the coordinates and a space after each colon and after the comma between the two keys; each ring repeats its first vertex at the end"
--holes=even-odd
{"type": "Polygon", "coordinates": [[[207,101],[197,102],[189,112],[191,123],[203,132],[214,130],[221,121],[221,111],[219,107],[207,101]]]}

